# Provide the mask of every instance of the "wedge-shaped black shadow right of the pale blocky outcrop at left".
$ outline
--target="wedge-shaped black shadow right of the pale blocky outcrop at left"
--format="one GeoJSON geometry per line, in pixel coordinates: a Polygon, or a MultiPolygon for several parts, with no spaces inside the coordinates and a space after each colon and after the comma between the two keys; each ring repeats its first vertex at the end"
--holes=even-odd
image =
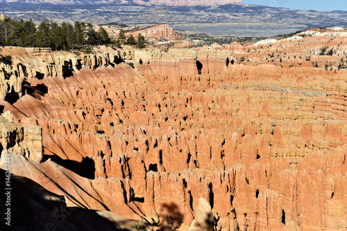
{"type": "Polygon", "coordinates": [[[89,179],[95,178],[95,163],[94,160],[90,157],[84,157],[82,162],[77,162],[75,160],[63,160],[57,155],[43,155],[42,162],[45,162],[48,159],[51,159],[54,163],[65,167],[72,172],[89,179]]]}

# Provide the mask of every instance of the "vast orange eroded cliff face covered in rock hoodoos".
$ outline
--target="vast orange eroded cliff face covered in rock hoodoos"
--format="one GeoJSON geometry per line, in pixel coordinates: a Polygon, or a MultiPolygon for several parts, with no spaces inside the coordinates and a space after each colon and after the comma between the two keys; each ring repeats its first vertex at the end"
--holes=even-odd
{"type": "Polygon", "coordinates": [[[13,171],[68,205],[153,227],[344,230],[347,72],[337,66],[346,62],[345,38],[263,41],[237,52],[237,44],[99,48],[126,62],[28,76],[35,91],[1,105],[15,122],[42,127],[43,159],[33,165],[19,155],[13,171]],[[327,42],[334,55],[314,53],[327,42]]]}

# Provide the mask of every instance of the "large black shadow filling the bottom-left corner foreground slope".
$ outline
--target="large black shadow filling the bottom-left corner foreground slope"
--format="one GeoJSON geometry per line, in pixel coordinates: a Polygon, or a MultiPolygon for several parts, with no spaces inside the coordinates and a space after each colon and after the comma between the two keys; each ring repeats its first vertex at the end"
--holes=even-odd
{"type": "MultiPolygon", "coordinates": [[[[5,185],[6,172],[0,169],[0,184],[5,185]]],[[[0,187],[0,212],[5,214],[10,207],[8,230],[146,230],[145,224],[135,220],[105,218],[96,210],[82,207],[67,207],[65,196],[49,192],[31,179],[10,175],[12,190],[0,187]],[[9,193],[8,193],[9,192],[9,193]],[[10,195],[8,197],[8,195],[10,195]],[[10,199],[10,206],[6,201],[10,199]],[[15,208],[20,209],[15,209],[15,208]]],[[[71,198],[71,197],[70,197],[71,198]]],[[[106,214],[106,216],[108,216],[106,214]]],[[[4,226],[1,226],[4,227],[4,226]]],[[[1,229],[3,230],[3,229],[1,229]]],[[[6,229],[5,229],[6,230],[6,229]]]]}

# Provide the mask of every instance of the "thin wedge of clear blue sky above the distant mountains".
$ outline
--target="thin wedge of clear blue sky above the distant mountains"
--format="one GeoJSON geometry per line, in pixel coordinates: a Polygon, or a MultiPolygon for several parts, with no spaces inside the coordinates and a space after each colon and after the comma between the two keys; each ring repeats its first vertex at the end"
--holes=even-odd
{"type": "Polygon", "coordinates": [[[246,4],[262,6],[284,7],[294,10],[346,10],[346,0],[243,0],[246,4]]]}

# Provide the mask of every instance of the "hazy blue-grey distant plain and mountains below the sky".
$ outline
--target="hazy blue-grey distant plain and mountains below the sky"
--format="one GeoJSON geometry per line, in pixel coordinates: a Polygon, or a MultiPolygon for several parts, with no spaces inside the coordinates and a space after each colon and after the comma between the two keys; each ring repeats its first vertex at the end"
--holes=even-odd
{"type": "Polygon", "coordinates": [[[347,27],[347,12],[248,5],[241,0],[0,0],[12,19],[93,24],[169,24],[187,33],[271,37],[314,27],[347,27]]]}

